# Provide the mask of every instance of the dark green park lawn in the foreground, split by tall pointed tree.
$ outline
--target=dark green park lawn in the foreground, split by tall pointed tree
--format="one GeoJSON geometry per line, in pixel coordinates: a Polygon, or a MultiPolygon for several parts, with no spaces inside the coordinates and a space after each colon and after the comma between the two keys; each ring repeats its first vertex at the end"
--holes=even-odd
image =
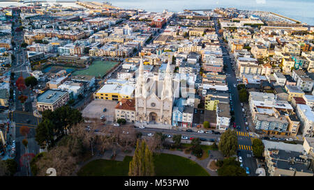
{"type": "MultiPolygon", "coordinates": [[[[79,176],[127,176],[128,164],[132,157],[124,161],[98,159],[83,166],[79,176]]],[[[209,176],[209,173],[195,161],[177,155],[154,155],[155,173],[157,176],[209,176]]]]}

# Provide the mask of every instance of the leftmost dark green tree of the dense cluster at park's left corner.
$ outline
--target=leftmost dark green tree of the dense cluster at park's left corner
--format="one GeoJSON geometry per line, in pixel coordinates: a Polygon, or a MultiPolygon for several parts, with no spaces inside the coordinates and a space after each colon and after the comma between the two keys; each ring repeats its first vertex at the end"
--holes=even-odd
{"type": "Polygon", "coordinates": [[[54,124],[51,120],[45,118],[36,127],[35,140],[40,148],[52,147],[54,145],[54,124]]]}

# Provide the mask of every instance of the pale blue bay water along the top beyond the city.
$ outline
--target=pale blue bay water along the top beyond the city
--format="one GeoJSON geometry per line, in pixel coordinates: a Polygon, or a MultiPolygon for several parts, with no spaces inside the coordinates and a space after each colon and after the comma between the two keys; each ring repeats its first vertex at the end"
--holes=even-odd
{"type": "MultiPolygon", "coordinates": [[[[92,1],[92,0],[91,0],[92,1]]],[[[100,1],[101,0],[94,0],[100,1]]],[[[262,10],[270,11],[286,17],[306,22],[307,24],[314,25],[314,7],[313,0],[112,0],[109,1],[113,6],[121,8],[138,8],[151,12],[161,12],[165,9],[174,12],[180,12],[184,9],[214,9],[217,7],[222,8],[238,8],[240,10],[262,10]]],[[[50,3],[52,4],[52,3],[50,3]]],[[[63,6],[75,6],[75,3],[61,3],[63,6]]],[[[22,3],[17,2],[0,2],[0,6],[20,6],[22,3]]]]}

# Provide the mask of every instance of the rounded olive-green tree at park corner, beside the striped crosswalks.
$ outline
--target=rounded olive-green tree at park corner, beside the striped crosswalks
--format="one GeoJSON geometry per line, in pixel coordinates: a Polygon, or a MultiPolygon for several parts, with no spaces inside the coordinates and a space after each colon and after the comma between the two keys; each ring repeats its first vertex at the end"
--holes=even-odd
{"type": "Polygon", "coordinates": [[[234,155],[238,148],[237,133],[231,129],[227,129],[220,137],[218,148],[226,157],[234,155]]]}

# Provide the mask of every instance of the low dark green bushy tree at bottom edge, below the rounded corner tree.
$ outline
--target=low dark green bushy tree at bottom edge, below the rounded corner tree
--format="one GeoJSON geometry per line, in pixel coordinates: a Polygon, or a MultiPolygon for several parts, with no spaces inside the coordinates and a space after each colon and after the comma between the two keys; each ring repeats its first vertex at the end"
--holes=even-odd
{"type": "Polygon", "coordinates": [[[235,157],[226,158],[218,165],[220,165],[217,171],[219,176],[246,176],[246,171],[240,166],[240,162],[235,160],[235,157]]]}

